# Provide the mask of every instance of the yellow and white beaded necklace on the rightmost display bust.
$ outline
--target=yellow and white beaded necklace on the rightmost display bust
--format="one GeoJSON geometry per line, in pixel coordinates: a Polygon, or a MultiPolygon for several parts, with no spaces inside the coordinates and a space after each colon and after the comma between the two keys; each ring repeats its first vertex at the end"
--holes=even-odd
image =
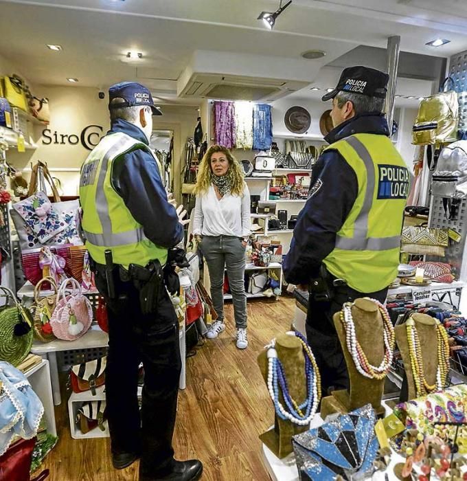
{"type": "Polygon", "coordinates": [[[409,343],[410,363],[413,372],[413,381],[415,383],[415,396],[420,397],[433,391],[440,391],[446,386],[446,379],[449,370],[449,344],[446,329],[440,323],[436,322],[436,340],[437,340],[437,370],[436,383],[430,385],[425,378],[423,368],[422,347],[420,337],[412,317],[406,322],[407,326],[407,342],[409,343]]]}

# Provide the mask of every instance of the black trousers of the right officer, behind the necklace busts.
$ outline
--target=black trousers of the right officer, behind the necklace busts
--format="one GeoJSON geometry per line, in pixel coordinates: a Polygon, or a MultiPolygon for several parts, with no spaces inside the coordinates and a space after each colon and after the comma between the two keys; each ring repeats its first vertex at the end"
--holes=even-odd
{"type": "Polygon", "coordinates": [[[373,298],[384,303],[387,289],[361,293],[348,286],[330,287],[332,299],[317,302],[312,293],[306,315],[306,338],[321,374],[321,392],[327,396],[332,390],[348,389],[349,375],[332,316],[341,311],[345,302],[358,298],[373,298]]]}

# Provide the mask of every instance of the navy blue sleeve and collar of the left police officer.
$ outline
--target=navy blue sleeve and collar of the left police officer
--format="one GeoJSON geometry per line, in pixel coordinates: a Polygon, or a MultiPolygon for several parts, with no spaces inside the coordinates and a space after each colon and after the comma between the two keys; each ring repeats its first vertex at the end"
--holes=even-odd
{"type": "MultiPolygon", "coordinates": [[[[149,145],[141,128],[117,119],[108,132],[122,132],[149,145]]],[[[183,240],[183,226],[168,203],[157,163],[150,153],[137,148],[113,161],[112,184],[133,218],[143,226],[144,235],[155,245],[170,249],[183,240]]]]}

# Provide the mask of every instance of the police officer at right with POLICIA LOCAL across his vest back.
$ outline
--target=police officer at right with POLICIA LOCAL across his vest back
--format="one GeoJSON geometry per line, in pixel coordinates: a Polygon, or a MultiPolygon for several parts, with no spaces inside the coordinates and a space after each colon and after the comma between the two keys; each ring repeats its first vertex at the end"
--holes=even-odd
{"type": "Polygon", "coordinates": [[[332,99],[334,129],[284,260],[286,281],[310,292],[306,335],[323,393],[348,388],[332,316],[356,298],[385,302],[398,273],[409,172],[382,113],[388,80],[382,71],[350,67],[323,96],[332,99]]]}

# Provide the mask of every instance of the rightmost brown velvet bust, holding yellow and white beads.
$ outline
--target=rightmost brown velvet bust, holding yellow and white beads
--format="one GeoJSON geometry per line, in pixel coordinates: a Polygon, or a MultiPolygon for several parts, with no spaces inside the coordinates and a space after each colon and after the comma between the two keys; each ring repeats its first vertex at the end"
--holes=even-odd
{"type": "MultiPolygon", "coordinates": [[[[438,365],[437,359],[437,335],[436,322],[433,317],[426,314],[412,314],[411,318],[415,322],[418,337],[420,339],[420,349],[422,351],[423,371],[426,382],[429,385],[436,384],[436,371],[438,365]]],[[[407,401],[415,399],[417,392],[415,390],[415,381],[413,380],[412,363],[409,354],[409,342],[407,341],[407,326],[400,324],[394,328],[396,333],[396,342],[404,362],[405,374],[407,376],[407,399],[400,399],[400,401],[407,401]]],[[[404,391],[402,389],[402,391],[404,391]]]]}

